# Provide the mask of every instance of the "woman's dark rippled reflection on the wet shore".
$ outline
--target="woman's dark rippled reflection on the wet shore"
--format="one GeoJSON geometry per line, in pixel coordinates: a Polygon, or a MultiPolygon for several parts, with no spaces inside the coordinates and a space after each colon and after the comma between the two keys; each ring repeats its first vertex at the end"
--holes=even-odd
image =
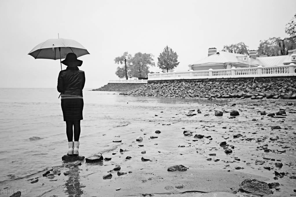
{"type": "Polygon", "coordinates": [[[80,197],[83,194],[81,190],[80,177],[79,177],[79,167],[77,165],[69,166],[67,173],[68,180],[65,185],[67,190],[65,190],[66,194],[69,197],[80,197]]]}

